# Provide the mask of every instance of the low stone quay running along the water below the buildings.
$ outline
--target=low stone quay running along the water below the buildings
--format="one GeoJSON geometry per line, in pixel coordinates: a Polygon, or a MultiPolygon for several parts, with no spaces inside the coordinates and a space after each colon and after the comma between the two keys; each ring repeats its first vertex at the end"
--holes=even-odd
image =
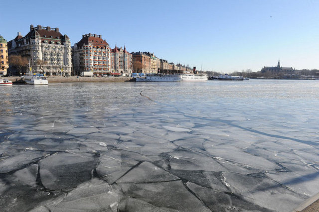
{"type": "MultiPolygon", "coordinates": [[[[4,77],[16,83],[20,81],[19,76],[4,77]]],[[[74,82],[125,82],[133,81],[132,77],[47,77],[49,83],[74,83],[74,82]]]]}

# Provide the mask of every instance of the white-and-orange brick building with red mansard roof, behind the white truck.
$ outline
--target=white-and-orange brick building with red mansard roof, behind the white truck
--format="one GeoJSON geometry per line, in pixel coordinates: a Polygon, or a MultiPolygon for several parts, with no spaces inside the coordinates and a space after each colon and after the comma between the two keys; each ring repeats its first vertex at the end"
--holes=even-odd
{"type": "Polygon", "coordinates": [[[92,71],[96,76],[110,73],[111,49],[102,35],[82,35],[72,50],[75,75],[84,71],[92,71]]]}

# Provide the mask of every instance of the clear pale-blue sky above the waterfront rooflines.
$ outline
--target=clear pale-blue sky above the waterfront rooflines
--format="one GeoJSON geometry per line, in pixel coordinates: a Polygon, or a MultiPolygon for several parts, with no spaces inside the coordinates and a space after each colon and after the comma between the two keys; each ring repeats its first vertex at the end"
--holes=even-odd
{"type": "Polygon", "coordinates": [[[319,69],[319,0],[2,0],[0,34],[58,27],[71,44],[101,34],[198,70],[319,69]]]}

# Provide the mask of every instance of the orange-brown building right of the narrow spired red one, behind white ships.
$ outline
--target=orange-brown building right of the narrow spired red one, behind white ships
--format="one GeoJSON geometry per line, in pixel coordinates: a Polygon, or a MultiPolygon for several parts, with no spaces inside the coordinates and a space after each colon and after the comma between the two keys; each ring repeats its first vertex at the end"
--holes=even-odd
{"type": "Polygon", "coordinates": [[[158,73],[160,71],[160,59],[150,52],[132,52],[133,68],[137,73],[158,73]]]}

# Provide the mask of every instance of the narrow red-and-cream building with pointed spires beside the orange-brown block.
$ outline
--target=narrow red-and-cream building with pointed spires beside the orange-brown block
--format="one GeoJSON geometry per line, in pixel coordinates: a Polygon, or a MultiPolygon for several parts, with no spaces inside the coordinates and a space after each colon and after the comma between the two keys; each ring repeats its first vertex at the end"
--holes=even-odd
{"type": "Polygon", "coordinates": [[[126,50],[115,48],[111,51],[111,71],[115,74],[127,75],[129,76],[133,72],[133,56],[126,50]]]}

